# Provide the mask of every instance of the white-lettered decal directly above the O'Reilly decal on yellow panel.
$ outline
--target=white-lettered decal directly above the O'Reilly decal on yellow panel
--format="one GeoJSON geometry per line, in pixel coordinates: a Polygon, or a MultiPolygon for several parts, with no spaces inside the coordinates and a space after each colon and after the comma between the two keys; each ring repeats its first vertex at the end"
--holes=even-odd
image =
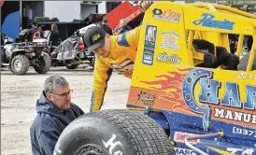
{"type": "Polygon", "coordinates": [[[171,49],[171,50],[178,50],[179,45],[178,45],[178,38],[179,35],[172,31],[167,31],[167,32],[162,32],[162,41],[159,45],[161,49],[171,49]]]}

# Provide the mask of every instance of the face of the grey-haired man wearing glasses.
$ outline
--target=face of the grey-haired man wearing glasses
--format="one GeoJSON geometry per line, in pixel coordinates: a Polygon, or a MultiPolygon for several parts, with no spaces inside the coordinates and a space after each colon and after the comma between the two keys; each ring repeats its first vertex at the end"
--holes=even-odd
{"type": "Polygon", "coordinates": [[[58,86],[54,92],[48,92],[47,97],[57,106],[61,112],[68,110],[71,105],[71,93],[69,86],[58,86]]]}

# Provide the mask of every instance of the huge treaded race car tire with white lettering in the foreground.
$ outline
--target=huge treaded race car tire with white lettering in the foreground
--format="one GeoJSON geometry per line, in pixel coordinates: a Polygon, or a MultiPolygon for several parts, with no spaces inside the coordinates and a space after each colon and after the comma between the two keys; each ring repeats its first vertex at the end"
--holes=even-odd
{"type": "Polygon", "coordinates": [[[167,134],[147,115],[102,110],[73,120],[58,139],[54,155],[175,155],[167,134]]]}

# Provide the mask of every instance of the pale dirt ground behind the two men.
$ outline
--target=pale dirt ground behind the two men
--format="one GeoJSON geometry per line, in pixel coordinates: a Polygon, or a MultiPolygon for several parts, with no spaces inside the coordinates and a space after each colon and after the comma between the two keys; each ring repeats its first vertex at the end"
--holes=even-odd
{"type": "MultiPolygon", "coordinates": [[[[72,102],[89,112],[92,91],[92,70],[52,67],[45,75],[30,68],[24,76],[1,71],[1,154],[31,155],[30,126],[36,117],[36,100],[46,77],[65,77],[73,92],[72,102]]],[[[125,108],[131,79],[113,72],[108,81],[102,109],[125,108]]]]}

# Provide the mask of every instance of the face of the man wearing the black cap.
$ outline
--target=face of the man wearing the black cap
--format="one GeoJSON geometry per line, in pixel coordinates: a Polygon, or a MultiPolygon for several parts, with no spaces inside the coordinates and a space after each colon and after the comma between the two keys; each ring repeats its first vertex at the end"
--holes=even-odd
{"type": "Polygon", "coordinates": [[[93,52],[103,58],[107,58],[110,54],[110,36],[106,35],[104,46],[94,49],[93,52]]]}

